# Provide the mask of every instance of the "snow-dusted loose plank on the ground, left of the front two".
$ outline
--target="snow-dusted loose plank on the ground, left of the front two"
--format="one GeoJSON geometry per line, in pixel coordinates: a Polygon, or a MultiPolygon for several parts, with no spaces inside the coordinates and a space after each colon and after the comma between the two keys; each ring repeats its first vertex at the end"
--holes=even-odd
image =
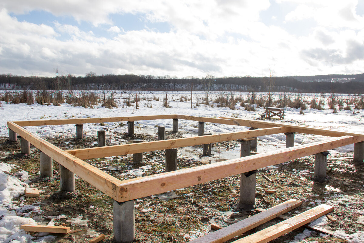
{"type": "Polygon", "coordinates": [[[221,230],[211,232],[208,235],[202,236],[192,240],[193,243],[222,243],[226,240],[230,240],[235,236],[241,235],[246,231],[249,231],[261,224],[274,219],[278,215],[282,215],[293,208],[296,208],[302,204],[302,201],[296,199],[290,199],[284,203],[278,204],[272,208],[267,209],[264,212],[257,213],[256,215],[250,216],[246,219],[240,220],[237,223],[231,224],[222,228],[221,230]]]}

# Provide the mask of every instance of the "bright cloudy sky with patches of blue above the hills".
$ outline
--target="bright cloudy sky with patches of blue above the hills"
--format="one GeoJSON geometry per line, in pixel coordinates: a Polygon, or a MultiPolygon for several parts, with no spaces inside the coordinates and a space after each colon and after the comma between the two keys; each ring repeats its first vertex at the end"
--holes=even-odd
{"type": "Polygon", "coordinates": [[[1,0],[0,73],[364,72],[363,0],[1,0]]]}

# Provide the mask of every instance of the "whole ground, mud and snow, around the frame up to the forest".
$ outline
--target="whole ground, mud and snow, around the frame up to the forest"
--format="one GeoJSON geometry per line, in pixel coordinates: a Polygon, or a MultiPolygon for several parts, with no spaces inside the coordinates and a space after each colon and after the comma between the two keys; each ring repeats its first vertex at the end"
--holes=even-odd
{"type": "MultiPolygon", "coordinates": [[[[20,92],[20,91],[19,91],[20,92]]],[[[76,91],[77,92],[77,91],[76,91]]],[[[5,91],[0,91],[0,97],[5,91]]],[[[255,93],[257,97],[265,97],[265,93],[255,93]]],[[[279,99],[280,94],[275,94],[279,99]]],[[[117,117],[133,115],[163,115],[184,114],[203,117],[238,117],[246,119],[261,119],[264,107],[257,103],[249,105],[248,92],[211,92],[209,102],[205,104],[205,92],[186,91],[98,91],[98,104],[92,107],[74,106],[60,103],[56,105],[40,105],[34,103],[9,104],[1,101],[0,107],[0,180],[6,185],[0,192],[0,208],[4,216],[0,218],[0,239],[4,242],[19,240],[20,242],[41,242],[56,240],[59,242],[84,242],[85,238],[103,233],[110,242],[112,239],[112,200],[97,189],[76,179],[76,193],[59,193],[58,164],[54,163],[54,179],[42,180],[39,177],[39,152],[32,147],[31,155],[20,154],[19,140],[16,143],[7,141],[7,121],[34,119],[67,119],[89,117],[117,117]],[[167,94],[167,104],[163,100],[167,94]],[[135,103],[135,95],[137,95],[135,103]],[[104,98],[114,98],[118,107],[105,108],[104,98]],[[234,100],[234,102],[232,102],[234,100]],[[216,101],[216,102],[214,102],[216,101]],[[220,102],[218,102],[220,101],[220,102]],[[248,101],[241,104],[241,101],[248,101]],[[225,103],[225,105],[224,105],[225,103]],[[136,107],[137,106],[137,107],[136,107]],[[191,108],[192,106],[192,108],[191,108]],[[226,106],[226,107],[225,107],[226,106]],[[254,107],[255,111],[252,110],[254,107]],[[249,111],[250,110],[250,111],[249,111]],[[10,166],[9,166],[10,165],[10,166]],[[5,175],[8,171],[14,176],[5,175]],[[11,178],[11,179],[8,179],[11,178]],[[20,179],[20,181],[19,181],[20,179]],[[39,198],[27,198],[20,195],[25,184],[36,187],[44,192],[39,198]],[[82,231],[67,235],[25,234],[19,230],[23,222],[39,224],[65,224],[72,229],[82,231]],[[35,236],[35,237],[33,237],[35,236]]],[[[297,99],[297,94],[288,94],[290,100],[297,99]]],[[[350,132],[364,132],[364,110],[355,109],[358,97],[338,95],[347,109],[336,111],[329,109],[330,94],[300,94],[302,103],[308,108],[285,107],[283,122],[304,124],[323,128],[340,129],[350,132]],[[312,99],[320,100],[323,109],[310,109],[312,99]],[[345,103],[346,101],[346,103],[345,103]]],[[[360,99],[361,97],[359,97],[360,99]]],[[[319,102],[317,102],[319,103],[319,102]]],[[[273,119],[275,121],[276,119],[273,119]]],[[[125,144],[132,139],[153,141],[157,138],[157,126],[165,126],[166,139],[197,136],[197,122],[181,121],[178,133],[171,133],[172,120],[155,120],[135,122],[135,136],[126,136],[125,122],[107,124],[85,124],[84,139],[75,140],[74,125],[39,126],[27,129],[41,136],[62,149],[75,149],[96,146],[97,130],[107,132],[107,145],[125,144]]],[[[207,133],[225,133],[246,130],[245,127],[227,126],[220,124],[205,124],[207,133]]],[[[295,145],[323,139],[323,136],[296,134],[295,145]]],[[[257,152],[267,152],[285,147],[284,134],[262,136],[258,138],[257,152]]],[[[308,156],[277,166],[260,170],[257,176],[256,206],[269,208],[290,198],[302,200],[301,207],[292,213],[305,211],[314,205],[326,203],[335,205],[332,213],[337,222],[330,222],[326,217],[316,220],[315,224],[335,231],[334,237],[328,238],[308,230],[298,229],[278,238],[274,242],[362,242],[364,239],[364,165],[347,160],[331,160],[337,157],[352,157],[353,145],[348,145],[329,151],[328,176],[326,183],[314,183],[310,180],[313,175],[314,156],[308,156]],[[262,178],[266,175],[274,180],[270,183],[262,178]],[[277,193],[265,194],[267,189],[276,189],[277,193]],[[304,238],[306,238],[304,240],[304,238]]],[[[236,141],[222,142],[213,145],[211,162],[219,162],[240,155],[240,145],[236,141]]],[[[178,149],[178,169],[201,165],[201,146],[178,149]]],[[[152,175],[164,171],[164,152],[148,152],[144,154],[143,164],[132,164],[131,156],[114,156],[88,161],[90,164],[110,173],[119,179],[152,175]]],[[[201,185],[175,190],[177,199],[161,201],[156,196],[136,200],[135,242],[187,242],[198,236],[207,234],[211,223],[222,226],[241,220],[252,212],[239,210],[239,176],[204,183],[201,185]]],[[[289,214],[288,214],[289,215],[289,214]]],[[[266,227],[269,223],[262,227],[266,227]]],[[[253,230],[254,232],[254,230],[253,230]]]]}

